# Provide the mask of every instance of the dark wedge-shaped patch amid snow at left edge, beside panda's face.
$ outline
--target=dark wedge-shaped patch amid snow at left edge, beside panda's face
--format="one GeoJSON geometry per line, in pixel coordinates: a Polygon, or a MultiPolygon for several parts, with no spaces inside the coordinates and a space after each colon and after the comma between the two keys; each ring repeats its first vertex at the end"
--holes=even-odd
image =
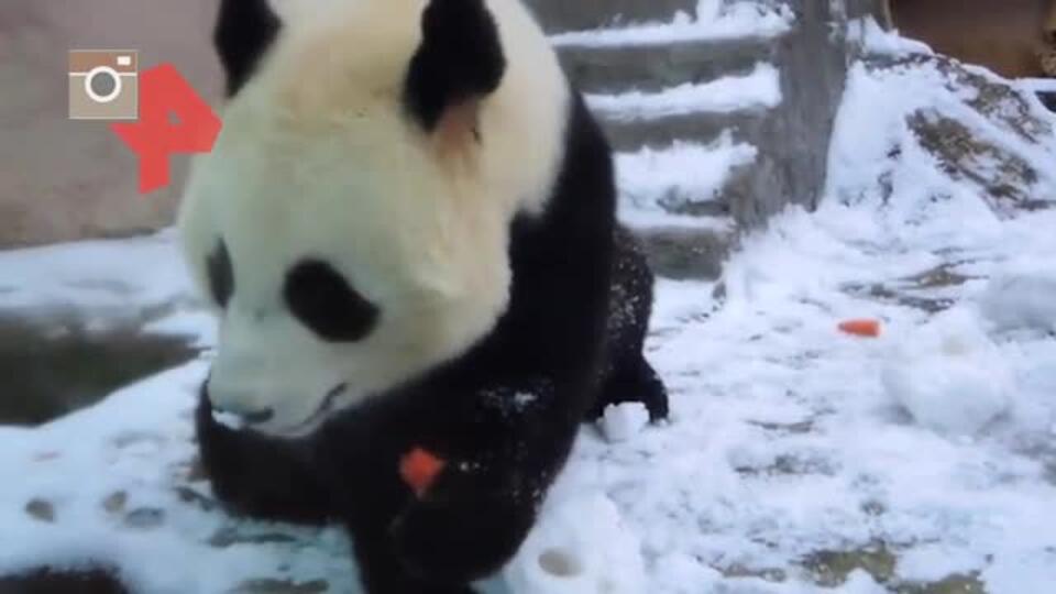
{"type": "Polygon", "coordinates": [[[197,354],[188,338],[139,323],[89,329],[73,315],[0,314],[0,425],[54,420],[197,354]]]}

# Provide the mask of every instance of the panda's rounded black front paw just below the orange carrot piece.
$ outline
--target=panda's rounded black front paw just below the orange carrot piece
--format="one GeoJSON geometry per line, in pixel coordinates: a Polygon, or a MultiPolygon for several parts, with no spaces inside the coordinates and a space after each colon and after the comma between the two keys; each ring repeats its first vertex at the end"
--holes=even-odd
{"type": "Polygon", "coordinates": [[[531,503],[444,473],[396,518],[392,536],[408,573],[427,583],[458,585],[502,569],[535,518],[531,503]]]}

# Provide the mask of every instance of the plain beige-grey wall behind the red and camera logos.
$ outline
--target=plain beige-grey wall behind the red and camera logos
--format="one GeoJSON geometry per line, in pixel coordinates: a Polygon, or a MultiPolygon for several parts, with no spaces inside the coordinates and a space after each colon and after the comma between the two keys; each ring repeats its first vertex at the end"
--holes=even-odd
{"type": "Polygon", "coordinates": [[[216,0],[0,0],[0,246],[123,235],[167,224],[176,183],[143,197],[135,157],[107,123],[67,119],[67,51],[139,48],[215,102],[216,0]]]}

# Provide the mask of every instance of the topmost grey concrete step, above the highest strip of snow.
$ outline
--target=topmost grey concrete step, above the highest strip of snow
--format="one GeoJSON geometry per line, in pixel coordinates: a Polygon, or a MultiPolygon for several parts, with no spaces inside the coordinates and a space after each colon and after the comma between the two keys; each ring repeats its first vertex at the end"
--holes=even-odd
{"type": "Polygon", "coordinates": [[[548,33],[671,21],[694,14],[697,0],[527,0],[548,33]]]}

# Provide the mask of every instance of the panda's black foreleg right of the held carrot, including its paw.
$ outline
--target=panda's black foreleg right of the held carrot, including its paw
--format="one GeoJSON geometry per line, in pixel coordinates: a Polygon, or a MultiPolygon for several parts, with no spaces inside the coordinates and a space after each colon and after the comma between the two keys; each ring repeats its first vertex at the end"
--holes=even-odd
{"type": "MultiPolygon", "coordinates": [[[[432,392],[420,446],[446,460],[388,528],[402,565],[425,582],[470,584],[501,570],[535,525],[582,409],[553,381],[432,392]]],[[[571,389],[571,388],[568,388],[571,389]]],[[[419,398],[420,400],[420,398],[419,398]]]]}

